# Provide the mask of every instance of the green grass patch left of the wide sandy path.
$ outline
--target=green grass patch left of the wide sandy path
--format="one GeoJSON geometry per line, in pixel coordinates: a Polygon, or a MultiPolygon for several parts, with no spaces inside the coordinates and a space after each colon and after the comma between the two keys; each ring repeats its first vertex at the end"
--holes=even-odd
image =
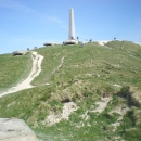
{"type": "Polygon", "coordinates": [[[20,56],[0,55],[0,91],[5,90],[28,76],[31,66],[30,53],[20,56]]]}

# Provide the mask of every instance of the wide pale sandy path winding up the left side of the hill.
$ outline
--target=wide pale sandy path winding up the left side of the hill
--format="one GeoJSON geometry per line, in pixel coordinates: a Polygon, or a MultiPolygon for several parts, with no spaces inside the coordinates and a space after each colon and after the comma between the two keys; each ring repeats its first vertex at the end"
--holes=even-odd
{"type": "Polygon", "coordinates": [[[37,52],[31,52],[31,53],[33,53],[31,54],[33,68],[30,70],[29,76],[25,80],[23,80],[21,84],[17,84],[15,87],[10,88],[8,91],[0,93],[0,98],[5,94],[14,93],[14,92],[34,87],[30,84],[35,79],[35,77],[37,77],[41,72],[41,63],[42,63],[43,56],[37,54],[37,52]]]}

